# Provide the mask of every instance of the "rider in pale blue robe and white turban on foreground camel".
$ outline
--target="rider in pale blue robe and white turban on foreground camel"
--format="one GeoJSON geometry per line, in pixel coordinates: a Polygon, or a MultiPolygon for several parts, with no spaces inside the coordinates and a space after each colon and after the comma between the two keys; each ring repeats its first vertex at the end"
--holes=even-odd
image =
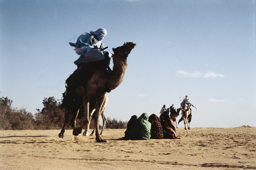
{"type": "Polygon", "coordinates": [[[80,57],[74,62],[78,69],[82,66],[95,61],[106,59],[107,64],[110,64],[111,53],[104,51],[104,44],[102,40],[107,35],[107,31],[100,28],[90,33],[84,33],[77,38],[76,43],[69,43],[70,46],[75,47],[75,51],[80,57]]]}

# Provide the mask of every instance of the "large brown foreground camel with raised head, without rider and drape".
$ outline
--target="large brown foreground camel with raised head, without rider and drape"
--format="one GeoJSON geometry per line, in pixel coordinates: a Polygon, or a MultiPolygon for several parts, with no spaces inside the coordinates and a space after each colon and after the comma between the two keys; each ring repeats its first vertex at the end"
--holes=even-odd
{"type": "Polygon", "coordinates": [[[125,43],[121,47],[113,48],[113,71],[107,74],[101,69],[97,69],[93,72],[90,79],[84,85],[84,91],[82,94],[82,104],[84,107],[84,117],[82,124],[79,128],[73,130],[73,135],[78,136],[82,133],[83,127],[87,126],[90,121],[89,107],[91,100],[95,98],[95,135],[97,142],[106,142],[99,136],[99,116],[104,100],[106,99],[106,93],[118,87],[124,80],[124,76],[127,70],[127,57],[131,50],[135,48],[136,44],[132,42],[125,43]]]}

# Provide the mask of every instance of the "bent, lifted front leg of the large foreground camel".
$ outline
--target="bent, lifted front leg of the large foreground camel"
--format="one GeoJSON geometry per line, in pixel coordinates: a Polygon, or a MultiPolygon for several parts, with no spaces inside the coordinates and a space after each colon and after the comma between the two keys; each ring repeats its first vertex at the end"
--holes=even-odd
{"type": "Polygon", "coordinates": [[[83,117],[83,121],[82,124],[80,126],[80,128],[76,128],[73,130],[73,135],[78,136],[80,133],[82,133],[83,127],[87,126],[90,120],[90,116],[89,116],[89,104],[90,104],[90,99],[89,96],[87,95],[83,95],[83,107],[84,107],[84,117],[83,117]]]}

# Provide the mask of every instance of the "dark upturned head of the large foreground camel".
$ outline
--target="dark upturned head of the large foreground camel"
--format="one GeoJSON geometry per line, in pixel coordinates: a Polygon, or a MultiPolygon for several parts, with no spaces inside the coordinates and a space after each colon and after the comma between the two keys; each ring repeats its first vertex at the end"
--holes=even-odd
{"type": "Polygon", "coordinates": [[[128,55],[130,54],[131,50],[134,49],[136,46],[135,43],[127,42],[121,47],[112,48],[114,54],[121,56],[127,59],[128,55]]]}

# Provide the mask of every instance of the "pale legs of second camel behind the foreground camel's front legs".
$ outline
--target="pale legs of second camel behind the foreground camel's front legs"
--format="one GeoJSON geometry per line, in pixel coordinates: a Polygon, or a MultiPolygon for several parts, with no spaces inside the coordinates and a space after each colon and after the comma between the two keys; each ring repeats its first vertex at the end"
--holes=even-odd
{"type": "MultiPolygon", "coordinates": [[[[103,102],[103,104],[102,104],[102,107],[101,107],[101,111],[100,111],[100,112],[101,112],[100,114],[101,114],[101,117],[102,117],[102,121],[103,121],[103,125],[102,125],[102,129],[101,129],[101,132],[100,132],[99,135],[102,135],[102,134],[103,134],[104,126],[105,126],[105,123],[106,123],[106,117],[104,116],[104,109],[105,109],[106,105],[108,104],[108,100],[109,100],[108,95],[106,95],[106,99],[104,100],[104,102],[103,102]]],[[[89,135],[89,126],[90,126],[90,122],[91,122],[91,119],[94,119],[95,113],[96,113],[96,112],[95,112],[95,110],[94,110],[94,111],[93,111],[93,115],[92,115],[92,117],[90,117],[89,123],[88,123],[88,125],[85,127],[85,130],[84,130],[84,132],[83,132],[83,135],[84,135],[84,136],[88,136],[88,135],[89,135]]],[[[95,127],[94,127],[92,133],[90,134],[90,136],[93,136],[94,131],[95,131],[95,127]]]]}

